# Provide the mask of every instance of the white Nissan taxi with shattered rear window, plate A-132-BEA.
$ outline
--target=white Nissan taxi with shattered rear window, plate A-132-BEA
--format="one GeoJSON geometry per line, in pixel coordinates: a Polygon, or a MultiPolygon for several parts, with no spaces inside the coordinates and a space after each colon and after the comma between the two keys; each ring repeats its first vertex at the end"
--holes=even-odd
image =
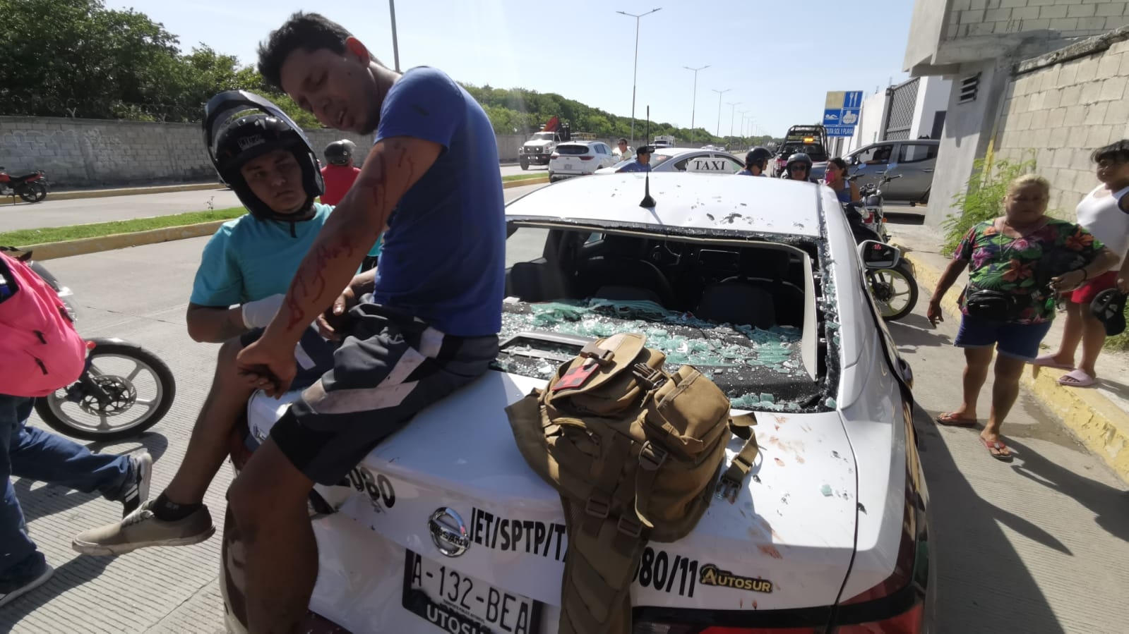
{"type": "MultiPolygon", "coordinates": [[[[755,412],[761,447],[735,497],[645,551],[631,587],[637,634],[930,632],[912,378],[863,274],[890,263],[856,248],[830,188],[620,174],[544,187],[506,215],[496,366],[341,486],[317,487],[320,572],[304,632],[554,634],[564,516],[504,408],[618,332],[646,333],[669,369],[708,373],[735,414],[755,412]]],[[[296,397],[252,398],[250,435],[265,438],[296,397]]],[[[242,631],[230,519],[224,539],[227,620],[242,631]]]]}

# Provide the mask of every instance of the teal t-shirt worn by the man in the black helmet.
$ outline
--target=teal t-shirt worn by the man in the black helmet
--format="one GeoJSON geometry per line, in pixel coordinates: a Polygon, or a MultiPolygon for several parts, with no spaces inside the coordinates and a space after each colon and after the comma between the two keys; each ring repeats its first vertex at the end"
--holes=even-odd
{"type": "Polygon", "coordinates": [[[225,222],[208,240],[192,284],[192,303],[231,306],[286,293],[298,265],[333,210],[314,203],[314,217],[294,222],[256,220],[250,213],[225,222]]]}

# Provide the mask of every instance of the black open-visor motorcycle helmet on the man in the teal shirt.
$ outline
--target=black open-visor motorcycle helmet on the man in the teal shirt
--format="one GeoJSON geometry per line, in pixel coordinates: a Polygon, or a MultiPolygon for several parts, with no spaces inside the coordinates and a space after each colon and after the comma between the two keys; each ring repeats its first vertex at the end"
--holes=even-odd
{"type": "Polygon", "coordinates": [[[275,213],[252,193],[239,171],[247,161],[268,152],[287,149],[298,160],[301,166],[301,186],[306,193],[304,209],[312,209],[314,199],[325,191],[322,173],[317,169],[317,155],[306,139],[306,133],[278,106],[259,95],[244,90],[227,90],[216,95],[204,106],[203,129],[208,156],[211,157],[216,171],[255,218],[289,221],[300,219],[275,213]]]}

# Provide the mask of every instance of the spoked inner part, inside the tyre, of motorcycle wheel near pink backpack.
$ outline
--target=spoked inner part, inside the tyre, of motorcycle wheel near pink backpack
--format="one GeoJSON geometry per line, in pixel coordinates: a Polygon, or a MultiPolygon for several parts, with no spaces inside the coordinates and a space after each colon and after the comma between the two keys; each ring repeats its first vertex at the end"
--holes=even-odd
{"type": "Polygon", "coordinates": [[[90,362],[90,380],[110,397],[99,402],[81,387],[70,386],[43,397],[43,402],[67,433],[80,438],[126,435],[138,428],[150,426],[158,405],[168,396],[158,370],[145,360],[125,354],[97,354],[90,362]],[[76,433],[77,432],[77,433],[76,433]]]}

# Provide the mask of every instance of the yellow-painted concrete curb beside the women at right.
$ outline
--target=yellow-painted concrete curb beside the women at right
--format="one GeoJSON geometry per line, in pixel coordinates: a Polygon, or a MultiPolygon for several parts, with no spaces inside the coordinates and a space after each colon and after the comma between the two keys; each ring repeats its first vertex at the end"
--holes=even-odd
{"type": "MultiPolygon", "coordinates": [[[[898,246],[896,239],[892,241],[898,246]]],[[[922,297],[928,301],[942,272],[913,257],[912,253],[904,253],[903,257],[913,265],[922,297]]],[[[957,299],[961,296],[955,287],[945,293],[940,302],[949,318],[954,319],[960,315],[957,299]]],[[[1070,389],[1058,385],[1058,378],[1066,373],[1064,370],[1039,368],[1038,375],[1034,370],[1032,368],[1032,372],[1023,373],[1022,385],[1121,479],[1129,482],[1129,414],[1093,389],[1070,389]]]]}

